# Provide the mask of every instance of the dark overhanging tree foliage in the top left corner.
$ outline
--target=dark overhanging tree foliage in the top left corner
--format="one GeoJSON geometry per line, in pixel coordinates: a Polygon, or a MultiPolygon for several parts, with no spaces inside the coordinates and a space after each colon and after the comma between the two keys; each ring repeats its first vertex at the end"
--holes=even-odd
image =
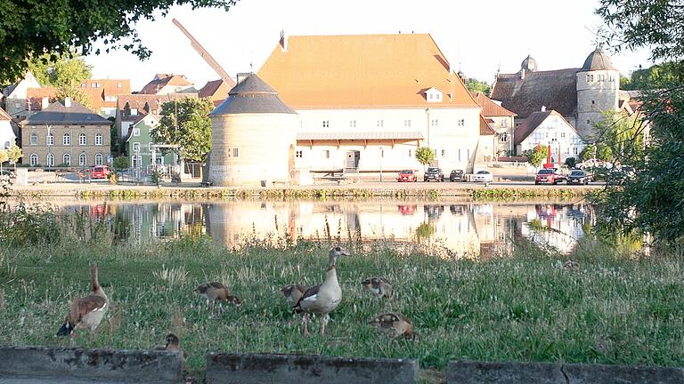
{"type": "Polygon", "coordinates": [[[20,79],[28,69],[28,60],[44,53],[69,55],[74,48],[86,55],[95,44],[104,51],[124,48],[141,60],[151,51],[142,44],[134,28],[139,20],[155,20],[166,16],[173,5],[190,4],[200,7],[222,7],[228,11],[237,0],[92,0],[88,2],[2,2],[0,28],[0,84],[20,79]]]}

